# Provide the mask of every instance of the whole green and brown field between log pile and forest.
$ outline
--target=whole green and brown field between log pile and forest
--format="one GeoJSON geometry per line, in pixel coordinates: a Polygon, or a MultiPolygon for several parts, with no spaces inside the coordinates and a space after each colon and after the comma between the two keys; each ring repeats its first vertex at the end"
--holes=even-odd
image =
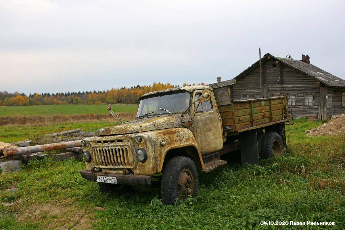
{"type": "MultiPolygon", "coordinates": [[[[108,105],[0,107],[0,142],[31,140],[37,134],[56,133],[75,127],[83,132],[95,132],[99,128],[118,124],[117,119],[109,116],[107,108],[108,105]]],[[[131,121],[137,108],[137,105],[113,105],[112,111],[131,121]]]]}

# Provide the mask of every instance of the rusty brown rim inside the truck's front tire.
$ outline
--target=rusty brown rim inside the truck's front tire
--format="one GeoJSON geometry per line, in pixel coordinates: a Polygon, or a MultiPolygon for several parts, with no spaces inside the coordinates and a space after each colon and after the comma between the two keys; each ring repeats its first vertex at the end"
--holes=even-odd
{"type": "Polygon", "coordinates": [[[185,200],[193,194],[194,190],[194,176],[189,169],[181,171],[177,180],[177,195],[178,199],[185,200]]]}

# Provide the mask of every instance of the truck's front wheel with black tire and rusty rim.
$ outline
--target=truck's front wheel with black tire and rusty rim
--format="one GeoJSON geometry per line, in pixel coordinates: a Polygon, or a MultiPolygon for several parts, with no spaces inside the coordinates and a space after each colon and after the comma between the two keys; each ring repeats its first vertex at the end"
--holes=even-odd
{"type": "Polygon", "coordinates": [[[161,182],[162,202],[174,205],[193,196],[198,190],[199,177],[194,162],[185,156],[176,156],[166,165],[161,182]]]}

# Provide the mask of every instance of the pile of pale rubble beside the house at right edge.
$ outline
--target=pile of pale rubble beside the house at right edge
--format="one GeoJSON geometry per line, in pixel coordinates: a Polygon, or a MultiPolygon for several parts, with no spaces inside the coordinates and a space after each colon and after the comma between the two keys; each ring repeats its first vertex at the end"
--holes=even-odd
{"type": "Polygon", "coordinates": [[[306,130],[307,136],[323,136],[338,133],[345,133],[345,114],[332,117],[328,123],[324,123],[322,126],[306,130]]]}

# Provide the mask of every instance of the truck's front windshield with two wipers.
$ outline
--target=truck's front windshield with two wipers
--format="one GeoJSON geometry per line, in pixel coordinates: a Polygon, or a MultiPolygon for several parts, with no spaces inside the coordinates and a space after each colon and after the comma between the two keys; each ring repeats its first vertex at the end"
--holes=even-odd
{"type": "Polygon", "coordinates": [[[190,104],[189,92],[160,95],[140,100],[137,117],[153,114],[183,113],[190,104]]]}

